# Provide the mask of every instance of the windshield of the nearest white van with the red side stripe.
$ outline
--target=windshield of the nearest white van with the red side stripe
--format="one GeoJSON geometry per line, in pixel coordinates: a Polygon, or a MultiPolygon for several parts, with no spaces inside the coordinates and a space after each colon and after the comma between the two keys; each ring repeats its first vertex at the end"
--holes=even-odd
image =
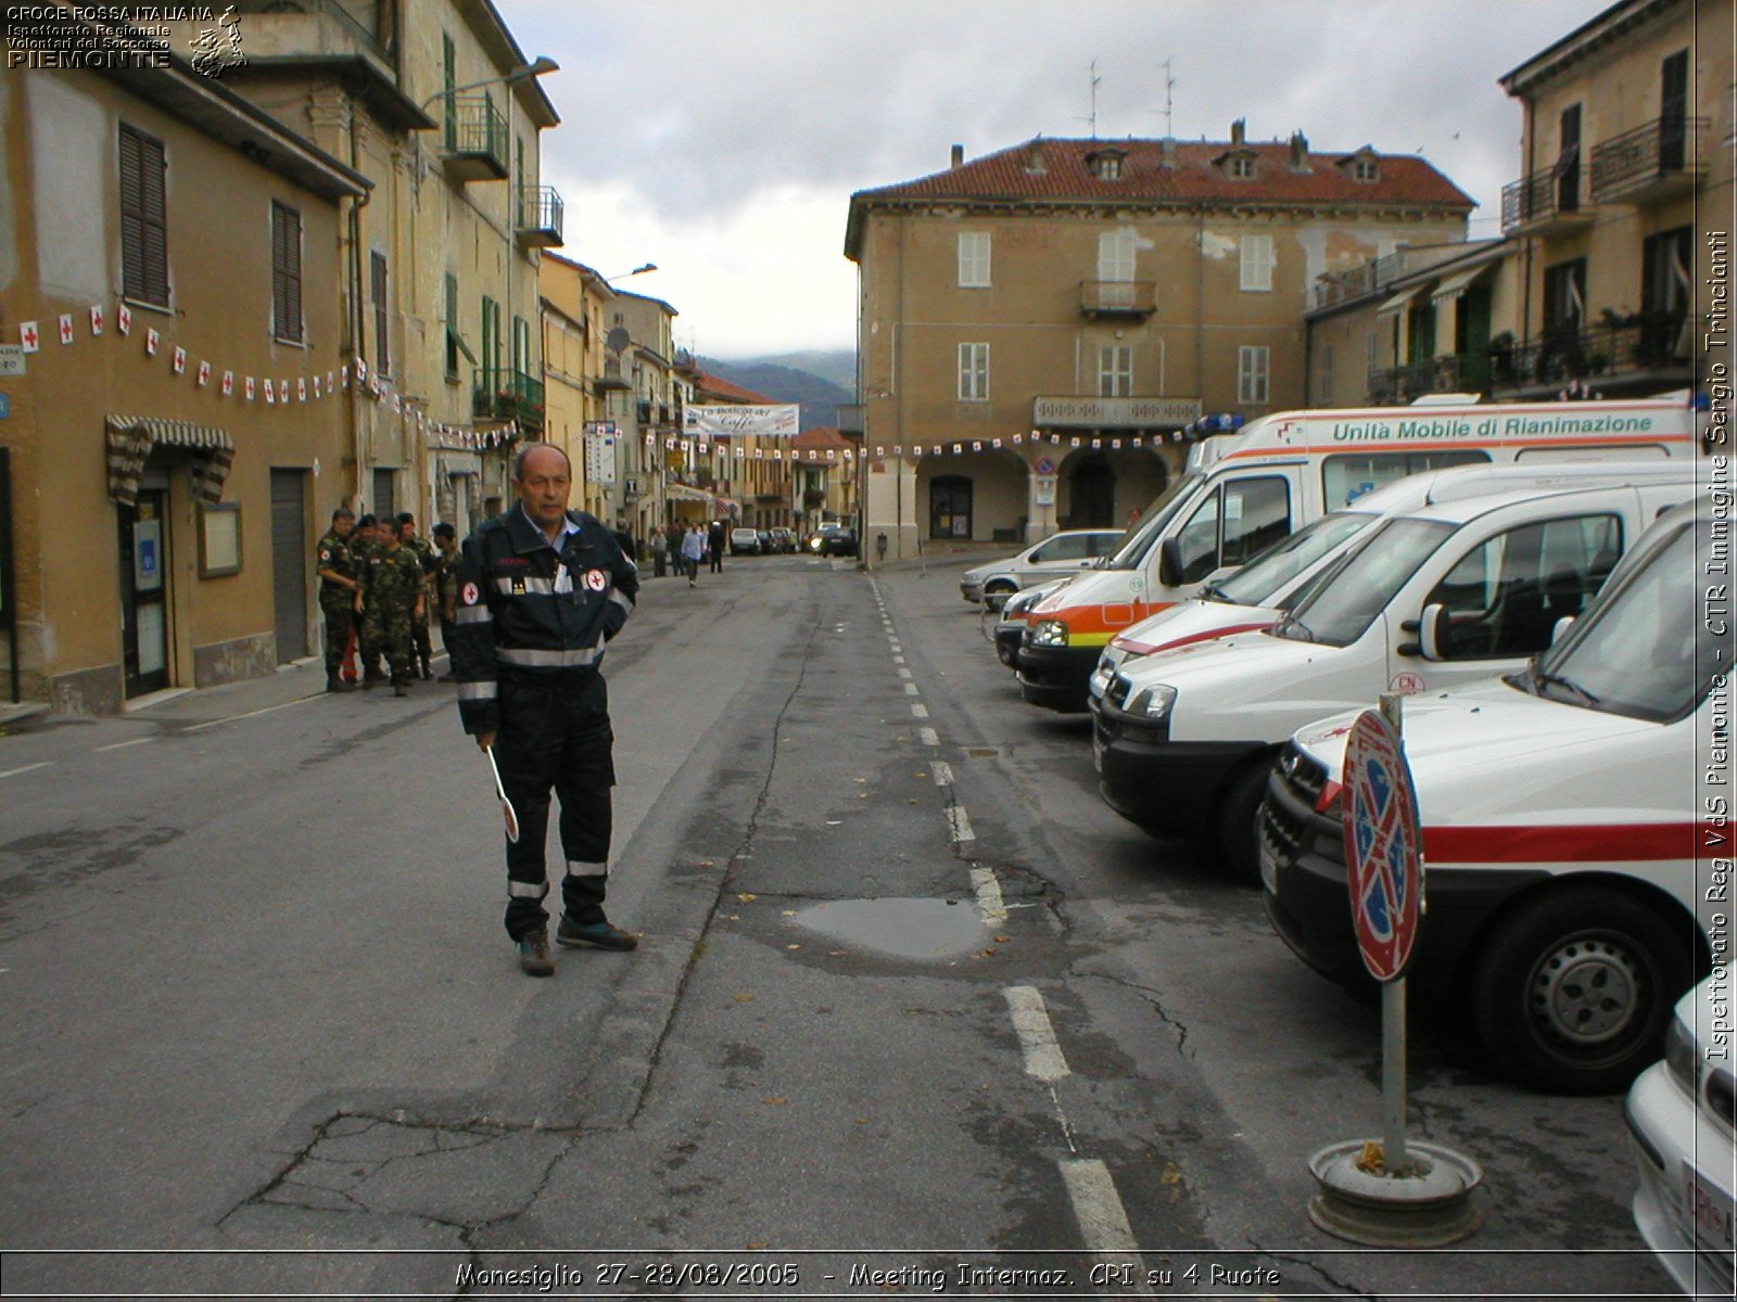
{"type": "Polygon", "coordinates": [[[1728,623],[1701,618],[1695,575],[1721,573],[1711,529],[1685,517],[1654,542],[1638,564],[1624,566],[1603,599],[1569,637],[1537,656],[1509,682],[1539,696],[1668,722],[1695,708],[1713,679],[1728,668],[1728,623]],[[1709,627],[1711,625],[1711,627],[1709,627]]]}

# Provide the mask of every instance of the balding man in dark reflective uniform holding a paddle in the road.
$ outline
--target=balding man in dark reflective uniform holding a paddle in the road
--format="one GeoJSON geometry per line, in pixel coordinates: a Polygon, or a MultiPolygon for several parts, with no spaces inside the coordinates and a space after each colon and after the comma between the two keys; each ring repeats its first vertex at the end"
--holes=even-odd
{"type": "Polygon", "coordinates": [[[493,748],[519,818],[507,844],[507,936],[519,967],[549,976],[549,790],[561,800],[563,917],[556,943],[632,950],[639,941],[603,911],[615,785],[603,646],[620,632],[639,571],[596,517],[568,510],[573,472],[547,443],[519,450],[518,503],[466,538],[452,663],[459,713],[493,748]]]}

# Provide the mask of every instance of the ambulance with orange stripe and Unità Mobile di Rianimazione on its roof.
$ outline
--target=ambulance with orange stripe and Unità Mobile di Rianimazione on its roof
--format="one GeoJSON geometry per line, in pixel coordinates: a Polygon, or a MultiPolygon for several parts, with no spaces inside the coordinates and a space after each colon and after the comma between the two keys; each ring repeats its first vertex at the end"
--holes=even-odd
{"type": "Polygon", "coordinates": [[[1025,700],[1086,708],[1119,632],[1193,594],[1292,529],[1419,470],[1471,462],[1694,457],[1690,394],[1635,401],[1282,411],[1190,450],[1188,472],[1103,569],[1027,615],[1025,700]]]}

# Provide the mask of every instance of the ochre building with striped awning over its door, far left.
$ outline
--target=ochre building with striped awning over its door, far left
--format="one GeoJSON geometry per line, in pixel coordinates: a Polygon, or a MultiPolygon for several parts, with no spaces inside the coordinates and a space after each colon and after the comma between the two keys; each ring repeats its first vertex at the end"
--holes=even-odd
{"type": "Polygon", "coordinates": [[[12,698],[106,713],[311,654],[353,448],[340,231],[368,181],[179,56],[9,71],[0,123],[12,698]]]}

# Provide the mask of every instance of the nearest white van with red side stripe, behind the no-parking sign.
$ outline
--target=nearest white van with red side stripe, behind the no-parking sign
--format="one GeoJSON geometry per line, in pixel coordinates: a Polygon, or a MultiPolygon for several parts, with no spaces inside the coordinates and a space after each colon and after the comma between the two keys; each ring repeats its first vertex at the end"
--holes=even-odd
{"type": "MultiPolygon", "coordinates": [[[[1407,979],[1468,1010],[1496,1066],[1607,1092],[1730,946],[1730,507],[1668,512],[1530,667],[1403,703],[1424,832],[1407,979]],[[1725,595],[1702,594],[1721,585],[1725,595]],[[1727,774],[1728,779],[1728,774],[1727,774]],[[1713,858],[1720,856],[1720,858],[1713,858]]],[[[1365,981],[1339,774],[1351,715],[1303,727],[1259,816],[1266,911],[1317,970],[1365,981]]]]}

